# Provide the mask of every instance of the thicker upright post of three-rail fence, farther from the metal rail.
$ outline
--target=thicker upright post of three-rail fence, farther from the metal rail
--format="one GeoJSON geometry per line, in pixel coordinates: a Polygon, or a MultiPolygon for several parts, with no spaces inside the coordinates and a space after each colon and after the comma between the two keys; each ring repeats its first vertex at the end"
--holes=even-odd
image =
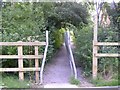
{"type": "MultiPolygon", "coordinates": [[[[18,41],[18,42],[22,42],[22,41],[18,41]]],[[[23,48],[22,46],[18,46],[18,67],[19,67],[19,70],[22,70],[23,69],[23,58],[22,58],[22,55],[23,55],[23,48]]],[[[24,80],[24,72],[23,71],[19,71],[19,80],[24,80]]]]}

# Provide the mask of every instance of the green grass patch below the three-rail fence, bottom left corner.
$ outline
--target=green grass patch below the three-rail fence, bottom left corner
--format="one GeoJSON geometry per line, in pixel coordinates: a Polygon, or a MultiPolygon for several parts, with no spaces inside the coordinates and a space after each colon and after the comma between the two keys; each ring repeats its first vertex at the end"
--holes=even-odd
{"type": "Polygon", "coordinates": [[[0,81],[0,86],[6,88],[29,88],[29,82],[27,80],[19,81],[16,76],[4,76],[0,81]]]}

